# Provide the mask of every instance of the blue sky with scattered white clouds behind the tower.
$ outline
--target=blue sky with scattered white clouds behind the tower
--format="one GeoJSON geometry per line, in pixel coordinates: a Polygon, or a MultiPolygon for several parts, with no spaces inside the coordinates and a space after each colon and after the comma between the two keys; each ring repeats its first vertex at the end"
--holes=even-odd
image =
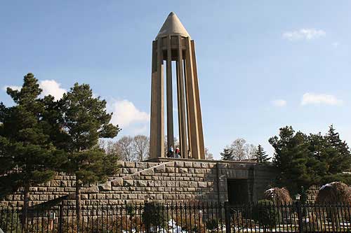
{"type": "Polygon", "coordinates": [[[2,1],[0,101],[32,72],[60,97],[106,99],[126,134],[149,134],[151,44],[174,11],[196,43],[205,143],[263,145],[279,127],[351,143],[351,1],[2,1]]]}

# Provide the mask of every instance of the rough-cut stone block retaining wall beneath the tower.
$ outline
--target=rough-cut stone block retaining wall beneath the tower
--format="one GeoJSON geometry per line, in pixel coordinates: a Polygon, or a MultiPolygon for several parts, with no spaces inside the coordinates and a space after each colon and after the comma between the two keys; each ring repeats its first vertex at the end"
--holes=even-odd
{"type": "MultiPolygon", "coordinates": [[[[225,202],[227,179],[247,179],[249,199],[263,197],[274,179],[272,168],[240,162],[166,160],[161,162],[119,162],[121,169],[103,184],[82,188],[85,206],[95,204],[159,202],[225,202]]],[[[74,204],[75,177],[58,174],[53,181],[32,187],[31,205],[65,197],[74,204]]],[[[22,205],[22,195],[8,195],[0,205],[22,205]]]]}

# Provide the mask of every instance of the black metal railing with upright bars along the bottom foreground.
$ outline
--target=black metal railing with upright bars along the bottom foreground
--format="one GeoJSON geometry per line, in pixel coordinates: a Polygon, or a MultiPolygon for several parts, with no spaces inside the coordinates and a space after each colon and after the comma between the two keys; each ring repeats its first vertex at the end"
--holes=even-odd
{"type": "MultiPolygon", "coordinates": [[[[72,204],[72,203],[71,203],[72,204]]],[[[173,203],[0,207],[3,232],[351,232],[350,204],[173,203]]],[[[1,232],[0,230],[0,232],[1,232]]]]}

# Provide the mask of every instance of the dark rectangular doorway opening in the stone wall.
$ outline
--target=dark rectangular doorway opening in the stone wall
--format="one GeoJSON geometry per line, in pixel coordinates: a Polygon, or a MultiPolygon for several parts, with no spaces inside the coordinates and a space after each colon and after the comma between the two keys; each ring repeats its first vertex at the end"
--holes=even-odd
{"type": "Polygon", "coordinates": [[[233,179],[227,180],[228,201],[230,204],[241,204],[249,202],[249,183],[248,180],[233,179]]]}

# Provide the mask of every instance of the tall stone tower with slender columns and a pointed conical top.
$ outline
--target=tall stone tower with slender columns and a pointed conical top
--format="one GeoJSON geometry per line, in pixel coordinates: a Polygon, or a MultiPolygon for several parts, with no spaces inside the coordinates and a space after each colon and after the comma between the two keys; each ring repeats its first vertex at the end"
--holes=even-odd
{"type": "Polygon", "coordinates": [[[178,129],[180,155],[205,159],[202,130],[199,81],[194,41],[171,12],[154,41],[152,41],[152,85],[150,157],[164,155],[164,64],[166,64],[166,119],[168,148],[173,143],[172,61],[176,64],[178,129]]]}

